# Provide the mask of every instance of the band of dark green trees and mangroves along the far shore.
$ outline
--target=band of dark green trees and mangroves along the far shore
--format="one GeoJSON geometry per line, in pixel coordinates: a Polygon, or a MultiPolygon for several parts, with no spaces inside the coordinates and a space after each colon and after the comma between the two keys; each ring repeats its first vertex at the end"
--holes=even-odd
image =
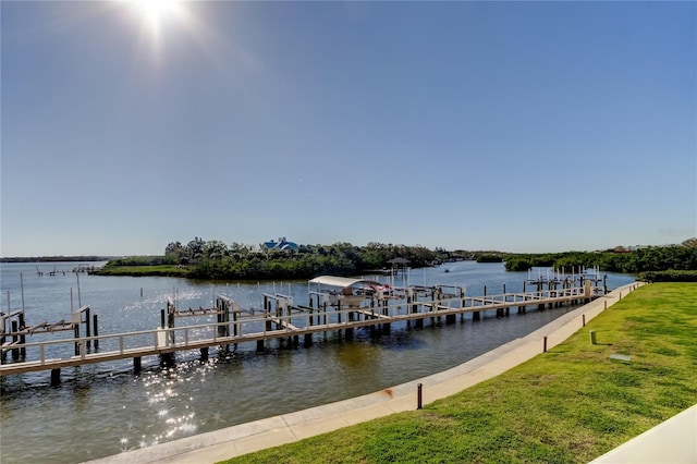
{"type": "Polygon", "coordinates": [[[622,272],[639,280],[697,281],[697,239],[680,245],[615,247],[596,252],[515,254],[496,251],[445,251],[424,246],[368,243],[333,245],[299,245],[295,249],[255,249],[253,246],[195,237],[186,245],[171,242],[164,255],[108,258],[98,256],[2,258],[3,262],[20,261],[89,261],[107,260],[99,276],[160,276],[199,280],[292,280],[320,274],[356,276],[389,273],[403,265],[393,258],[408,260],[411,268],[439,266],[458,260],[504,262],[509,271],[527,271],[534,267],[551,267],[564,273],[578,273],[582,268],[598,268],[603,272],[622,272]]]}

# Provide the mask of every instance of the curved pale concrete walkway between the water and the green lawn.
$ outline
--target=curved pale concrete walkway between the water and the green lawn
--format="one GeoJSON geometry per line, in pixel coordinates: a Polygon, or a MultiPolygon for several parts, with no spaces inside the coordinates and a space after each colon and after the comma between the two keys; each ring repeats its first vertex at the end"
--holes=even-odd
{"type": "Polygon", "coordinates": [[[526,337],[513,340],[452,369],[402,383],[375,393],[295,413],[241,424],[186,437],[140,450],[103,457],[91,463],[192,463],[205,464],[277,447],[417,406],[417,386],[423,384],[423,404],[450,396],[498,376],[558,345],[623,295],[639,286],[635,282],[564,314],[526,337]]]}

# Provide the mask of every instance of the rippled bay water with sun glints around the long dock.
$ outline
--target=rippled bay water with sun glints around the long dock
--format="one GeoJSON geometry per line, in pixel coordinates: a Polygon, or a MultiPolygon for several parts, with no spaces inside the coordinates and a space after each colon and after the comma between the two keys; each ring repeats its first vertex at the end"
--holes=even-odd
{"type": "MultiPolygon", "coordinates": [[[[292,293],[296,304],[308,303],[306,282],[81,274],[78,292],[76,276],[60,272],[75,266],[57,264],[59,272],[47,276],[53,264],[3,264],[0,307],[8,308],[8,291],[11,308],[22,307],[21,276],[27,325],[70,320],[72,289],[73,308],[82,303],[99,314],[100,334],[157,328],[168,296],[175,296],[180,307],[210,307],[215,295],[223,294],[243,308],[258,308],[261,293],[276,290],[292,293]],[[37,274],[37,267],[45,276],[37,274]]],[[[539,272],[547,270],[533,270],[534,276],[539,272]]],[[[462,261],[414,270],[409,281],[464,285],[468,295],[480,295],[485,285],[488,294],[501,293],[504,283],[506,291],[519,292],[527,276],[505,272],[502,264],[462,261]]],[[[609,274],[608,285],[633,280],[609,274]]],[[[255,343],[241,344],[234,352],[211,351],[206,363],[197,359],[198,352],[181,352],[169,370],[152,356],[143,359],[138,377],[130,362],[66,368],[59,387],[49,384],[49,371],[2,377],[0,462],[81,462],[370,393],[456,366],[567,310],[528,310],[504,318],[490,312],[480,321],[467,316],[452,326],[428,326],[427,320],[423,329],[394,323],[389,335],[366,328],[356,330],[350,342],[334,333],[317,334],[309,347],[270,342],[261,354],[255,353],[255,343]]],[[[196,323],[205,321],[198,318],[196,323]]],[[[70,331],[37,334],[27,342],[71,337],[70,331]]]]}

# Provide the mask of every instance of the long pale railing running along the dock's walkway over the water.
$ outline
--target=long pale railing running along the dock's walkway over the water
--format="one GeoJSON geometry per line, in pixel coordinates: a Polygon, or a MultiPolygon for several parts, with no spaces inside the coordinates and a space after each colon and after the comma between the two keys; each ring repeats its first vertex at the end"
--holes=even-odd
{"type": "MultiPolygon", "coordinates": [[[[490,296],[465,296],[463,289],[463,292],[457,296],[454,293],[447,293],[429,301],[408,301],[401,297],[379,301],[366,300],[366,303],[369,302],[371,305],[360,307],[325,306],[321,308],[303,307],[303,309],[295,307],[293,310],[282,314],[261,310],[253,314],[239,314],[234,320],[223,322],[23,343],[22,347],[25,349],[26,355],[22,361],[2,364],[0,375],[167,354],[216,345],[258,342],[330,330],[409,320],[418,321],[430,317],[464,315],[466,313],[478,314],[516,306],[538,305],[539,307],[543,304],[575,301],[580,303],[597,297],[599,294],[598,288],[577,286],[490,296]],[[273,323],[277,326],[276,329],[272,328],[273,323]],[[221,332],[219,330],[221,327],[232,330],[221,332]],[[221,335],[221,333],[232,334],[221,335]],[[90,344],[97,345],[96,341],[99,342],[99,349],[90,349],[90,344]],[[77,350],[74,349],[75,346],[77,350]]],[[[3,350],[12,350],[12,346],[3,350]]]]}

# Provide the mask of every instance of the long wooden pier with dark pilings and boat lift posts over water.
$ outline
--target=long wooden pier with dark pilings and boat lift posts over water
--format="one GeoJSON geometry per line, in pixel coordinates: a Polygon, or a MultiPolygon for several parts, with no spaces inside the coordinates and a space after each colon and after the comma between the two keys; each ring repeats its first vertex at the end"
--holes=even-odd
{"type": "Polygon", "coordinates": [[[26,343],[23,339],[22,343],[19,342],[20,335],[30,335],[39,330],[51,331],[60,322],[59,326],[42,322],[3,332],[3,338],[12,338],[13,343],[2,345],[3,364],[0,365],[0,376],[51,370],[51,381],[59,383],[62,368],[127,358],[133,359],[134,373],[137,374],[143,356],[160,356],[163,363],[169,364],[173,363],[174,354],[179,351],[199,350],[201,359],[206,359],[211,346],[228,347],[256,342],[257,351],[262,351],[269,340],[286,339],[297,344],[299,337],[308,345],[311,344],[313,334],[319,332],[339,331],[350,339],[354,329],[360,327],[379,326],[383,333],[389,333],[390,326],[396,322],[406,322],[407,326],[414,323],[418,328],[424,326],[426,319],[436,322],[444,318],[445,323],[454,323],[457,315],[464,319],[467,313],[472,313],[473,320],[478,320],[482,312],[496,312],[498,317],[504,317],[510,314],[511,308],[525,313],[530,305],[543,309],[563,304],[580,304],[603,294],[604,289],[586,282],[584,286],[486,296],[465,296],[465,289],[458,286],[395,288],[389,294],[366,296],[360,305],[353,302],[343,306],[341,300],[332,304],[330,298],[320,297],[319,294],[315,302],[310,297],[309,306],[296,306],[288,295],[265,294],[262,309],[242,309],[236,302],[225,296],[218,296],[213,308],[196,309],[176,309],[170,300],[168,307],[161,310],[159,328],[98,334],[95,317],[94,334],[87,328],[87,337],[80,337],[78,329],[74,328],[89,321],[89,307],[85,306],[70,326],[61,321],[75,330],[74,338],[34,343],[26,343]],[[86,320],[82,320],[80,314],[85,313],[86,320]],[[212,315],[216,316],[215,322],[175,327],[175,321],[182,318],[193,320],[197,317],[210,318],[212,315]],[[12,362],[7,363],[7,351],[20,349],[21,355],[13,355],[12,362]]]}

